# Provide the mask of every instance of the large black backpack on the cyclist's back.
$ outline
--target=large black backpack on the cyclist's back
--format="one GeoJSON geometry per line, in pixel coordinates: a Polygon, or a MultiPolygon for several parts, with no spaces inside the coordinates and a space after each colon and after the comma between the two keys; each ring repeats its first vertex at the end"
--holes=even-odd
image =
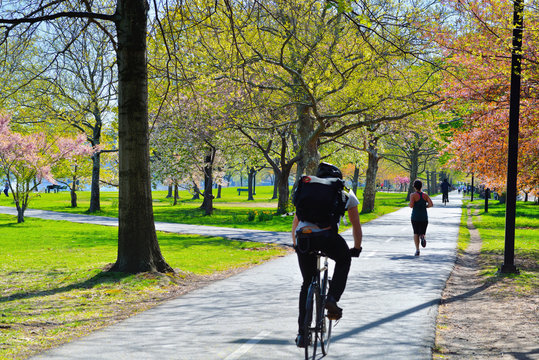
{"type": "Polygon", "coordinates": [[[298,219],[321,228],[337,225],[346,207],[343,189],[339,178],[302,176],[292,197],[298,219]]]}

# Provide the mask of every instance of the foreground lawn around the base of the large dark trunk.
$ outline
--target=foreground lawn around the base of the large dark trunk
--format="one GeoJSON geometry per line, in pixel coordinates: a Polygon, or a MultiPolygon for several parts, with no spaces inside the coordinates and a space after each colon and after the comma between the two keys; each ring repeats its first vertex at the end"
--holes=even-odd
{"type": "Polygon", "coordinates": [[[158,233],[177,274],[104,272],[117,229],[0,215],[0,358],[22,359],[153,306],[192,280],[286,253],[274,245],[158,233]]]}

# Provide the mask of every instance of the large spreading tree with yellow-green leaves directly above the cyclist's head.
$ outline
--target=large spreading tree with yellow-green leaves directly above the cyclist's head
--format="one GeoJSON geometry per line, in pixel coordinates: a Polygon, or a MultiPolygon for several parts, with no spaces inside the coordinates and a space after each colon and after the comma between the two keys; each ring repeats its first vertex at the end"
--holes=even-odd
{"type": "MultiPolygon", "coordinates": [[[[265,98],[267,108],[289,110],[286,121],[295,126],[299,174],[316,170],[322,139],[367,124],[366,116],[353,115],[376,113],[368,122],[389,121],[436,103],[428,85],[433,68],[416,71],[415,61],[403,55],[411,41],[402,46],[384,42],[376,31],[392,26],[384,15],[379,24],[359,31],[350,20],[359,17],[347,17],[332,4],[204,2],[181,13],[200,24],[190,49],[212,59],[201,61],[201,67],[242,83],[250,98],[265,98]],[[391,115],[384,109],[392,109],[391,115]]],[[[368,19],[369,10],[361,16],[368,19]]]]}

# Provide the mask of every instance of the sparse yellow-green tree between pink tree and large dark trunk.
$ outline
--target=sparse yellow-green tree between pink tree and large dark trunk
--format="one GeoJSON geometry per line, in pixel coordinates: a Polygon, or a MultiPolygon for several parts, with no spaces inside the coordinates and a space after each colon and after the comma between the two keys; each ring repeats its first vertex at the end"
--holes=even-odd
{"type": "MultiPolygon", "coordinates": [[[[101,208],[101,155],[117,151],[100,146],[105,144],[102,131],[111,122],[107,118],[113,116],[112,102],[116,96],[114,49],[108,34],[95,23],[64,25],[50,24],[53,31],[40,36],[34,45],[38,54],[19,59],[20,78],[30,81],[31,86],[25,86],[24,95],[13,99],[8,109],[18,113],[18,122],[26,118],[32,121],[38,116],[53,127],[67,123],[86,134],[91,146],[99,149],[92,155],[88,209],[96,212],[101,208]]],[[[10,85],[18,86],[21,81],[10,85]]]]}

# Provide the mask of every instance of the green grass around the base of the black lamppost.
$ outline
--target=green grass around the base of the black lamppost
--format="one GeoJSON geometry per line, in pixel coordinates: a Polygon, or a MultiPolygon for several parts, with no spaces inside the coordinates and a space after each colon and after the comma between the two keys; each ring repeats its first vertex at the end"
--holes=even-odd
{"type": "Polygon", "coordinates": [[[474,216],[474,226],[482,239],[482,273],[496,280],[500,276],[512,279],[517,291],[529,293],[539,288],[539,206],[531,202],[517,202],[515,221],[515,265],[520,274],[501,275],[505,249],[505,204],[489,203],[488,213],[481,211],[474,216]]]}

